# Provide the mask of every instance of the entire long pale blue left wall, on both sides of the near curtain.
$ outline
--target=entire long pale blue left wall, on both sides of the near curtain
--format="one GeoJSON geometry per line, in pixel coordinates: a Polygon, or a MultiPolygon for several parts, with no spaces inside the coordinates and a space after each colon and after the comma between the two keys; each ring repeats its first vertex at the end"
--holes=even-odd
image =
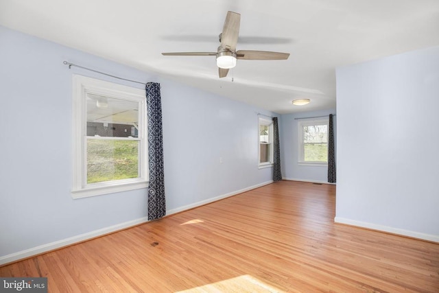
{"type": "Polygon", "coordinates": [[[145,189],[71,198],[72,74],[143,86],[64,60],[161,83],[168,211],[270,182],[272,169],[257,167],[257,113],[272,113],[5,27],[0,43],[0,259],[147,215],[145,189]]]}

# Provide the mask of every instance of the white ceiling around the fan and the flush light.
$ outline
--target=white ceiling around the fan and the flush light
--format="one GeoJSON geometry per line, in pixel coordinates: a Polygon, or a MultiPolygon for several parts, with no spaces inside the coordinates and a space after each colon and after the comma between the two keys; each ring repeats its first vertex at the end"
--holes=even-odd
{"type": "Polygon", "coordinates": [[[0,25],[283,114],[334,108],[336,67],[439,45],[439,0],[1,0],[0,25]],[[161,55],[216,51],[228,10],[237,49],[289,59],[219,79],[215,56],[161,55]]]}

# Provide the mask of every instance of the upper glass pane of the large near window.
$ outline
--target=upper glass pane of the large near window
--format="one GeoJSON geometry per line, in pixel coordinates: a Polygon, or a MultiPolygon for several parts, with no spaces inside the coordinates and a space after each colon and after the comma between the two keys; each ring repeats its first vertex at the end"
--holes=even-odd
{"type": "Polygon", "coordinates": [[[87,94],[87,136],[138,137],[139,103],[87,94]]]}

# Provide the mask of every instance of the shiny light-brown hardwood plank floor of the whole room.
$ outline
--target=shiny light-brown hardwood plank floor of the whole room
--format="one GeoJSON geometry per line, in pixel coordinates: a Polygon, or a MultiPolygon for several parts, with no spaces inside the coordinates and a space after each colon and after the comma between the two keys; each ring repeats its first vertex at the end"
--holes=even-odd
{"type": "Polygon", "coordinates": [[[334,224],[335,186],[281,181],[0,268],[49,292],[439,292],[439,244],[334,224]]]}

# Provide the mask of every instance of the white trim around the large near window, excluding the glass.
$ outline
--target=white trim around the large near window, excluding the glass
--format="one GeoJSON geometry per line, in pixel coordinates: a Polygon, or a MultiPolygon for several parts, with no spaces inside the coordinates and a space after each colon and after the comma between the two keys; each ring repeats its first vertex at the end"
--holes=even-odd
{"type": "Polygon", "coordinates": [[[82,75],[73,75],[73,186],[72,198],[85,198],[148,187],[147,147],[139,153],[139,178],[86,184],[86,95],[104,95],[139,102],[139,138],[147,145],[145,90],[82,75]]]}

